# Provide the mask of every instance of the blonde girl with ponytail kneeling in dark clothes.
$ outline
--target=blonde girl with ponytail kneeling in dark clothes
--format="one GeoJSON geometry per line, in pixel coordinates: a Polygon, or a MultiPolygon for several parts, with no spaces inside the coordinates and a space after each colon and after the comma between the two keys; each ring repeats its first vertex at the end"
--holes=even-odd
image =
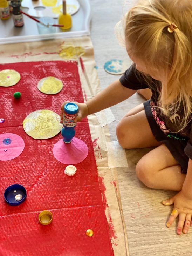
{"type": "MultiPolygon", "coordinates": [[[[178,193],[166,223],[179,215],[177,234],[192,225],[192,6],[191,0],[141,0],[123,21],[126,50],[133,65],[120,80],[87,103],[77,103],[76,119],[150,88],[151,99],[130,110],[116,127],[123,148],[156,146],[139,160],[138,178],[148,187],[178,193]]],[[[63,118],[63,103],[61,119],[63,118]]]]}

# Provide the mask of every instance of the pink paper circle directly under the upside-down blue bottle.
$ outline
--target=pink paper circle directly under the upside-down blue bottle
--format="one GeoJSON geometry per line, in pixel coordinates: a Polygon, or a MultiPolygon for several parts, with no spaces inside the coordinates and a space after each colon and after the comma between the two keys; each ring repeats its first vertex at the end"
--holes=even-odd
{"type": "Polygon", "coordinates": [[[64,164],[81,163],[88,155],[87,145],[80,139],[73,138],[71,143],[57,141],[53,147],[55,158],[64,164]]]}

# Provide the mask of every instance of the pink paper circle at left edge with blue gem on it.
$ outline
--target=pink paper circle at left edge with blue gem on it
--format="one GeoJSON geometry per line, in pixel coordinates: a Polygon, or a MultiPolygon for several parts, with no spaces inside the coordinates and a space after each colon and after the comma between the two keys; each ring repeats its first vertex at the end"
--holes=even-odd
{"type": "Polygon", "coordinates": [[[18,157],[25,147],[25,142],[23,139],[14,133],[2,133],[0,134],[0,160],[6,161],[18,157]],[[11,144],[3,144],[3,140],[9,138],[11,139],[11,144]],[[6,152],[4,150],[7,150],[6,152]]]}

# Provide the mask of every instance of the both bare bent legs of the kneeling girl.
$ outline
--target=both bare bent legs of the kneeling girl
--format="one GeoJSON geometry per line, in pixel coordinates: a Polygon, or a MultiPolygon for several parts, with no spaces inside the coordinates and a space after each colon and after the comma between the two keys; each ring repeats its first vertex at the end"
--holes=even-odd
{"type": "Polygon", "coordinates": [[[139,160],[136,174],[147,187],[180,191],[185,180],[181,166],[169,149],[151,132],[143,104],[131,109],[116,128],[119,144],[124,148],[158,146],[139,160]]]}

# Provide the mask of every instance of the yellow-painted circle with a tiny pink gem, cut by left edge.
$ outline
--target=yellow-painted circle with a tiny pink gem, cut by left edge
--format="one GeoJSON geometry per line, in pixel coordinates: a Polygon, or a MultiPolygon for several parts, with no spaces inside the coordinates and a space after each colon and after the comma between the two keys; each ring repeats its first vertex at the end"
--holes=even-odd
{"type": "Polygon", "coordinates": [[[4,69],[0,71],[0,86],[9,87],[12,85],[16,85],[21,76],[19,72],[13,69],[4,69]]]}

